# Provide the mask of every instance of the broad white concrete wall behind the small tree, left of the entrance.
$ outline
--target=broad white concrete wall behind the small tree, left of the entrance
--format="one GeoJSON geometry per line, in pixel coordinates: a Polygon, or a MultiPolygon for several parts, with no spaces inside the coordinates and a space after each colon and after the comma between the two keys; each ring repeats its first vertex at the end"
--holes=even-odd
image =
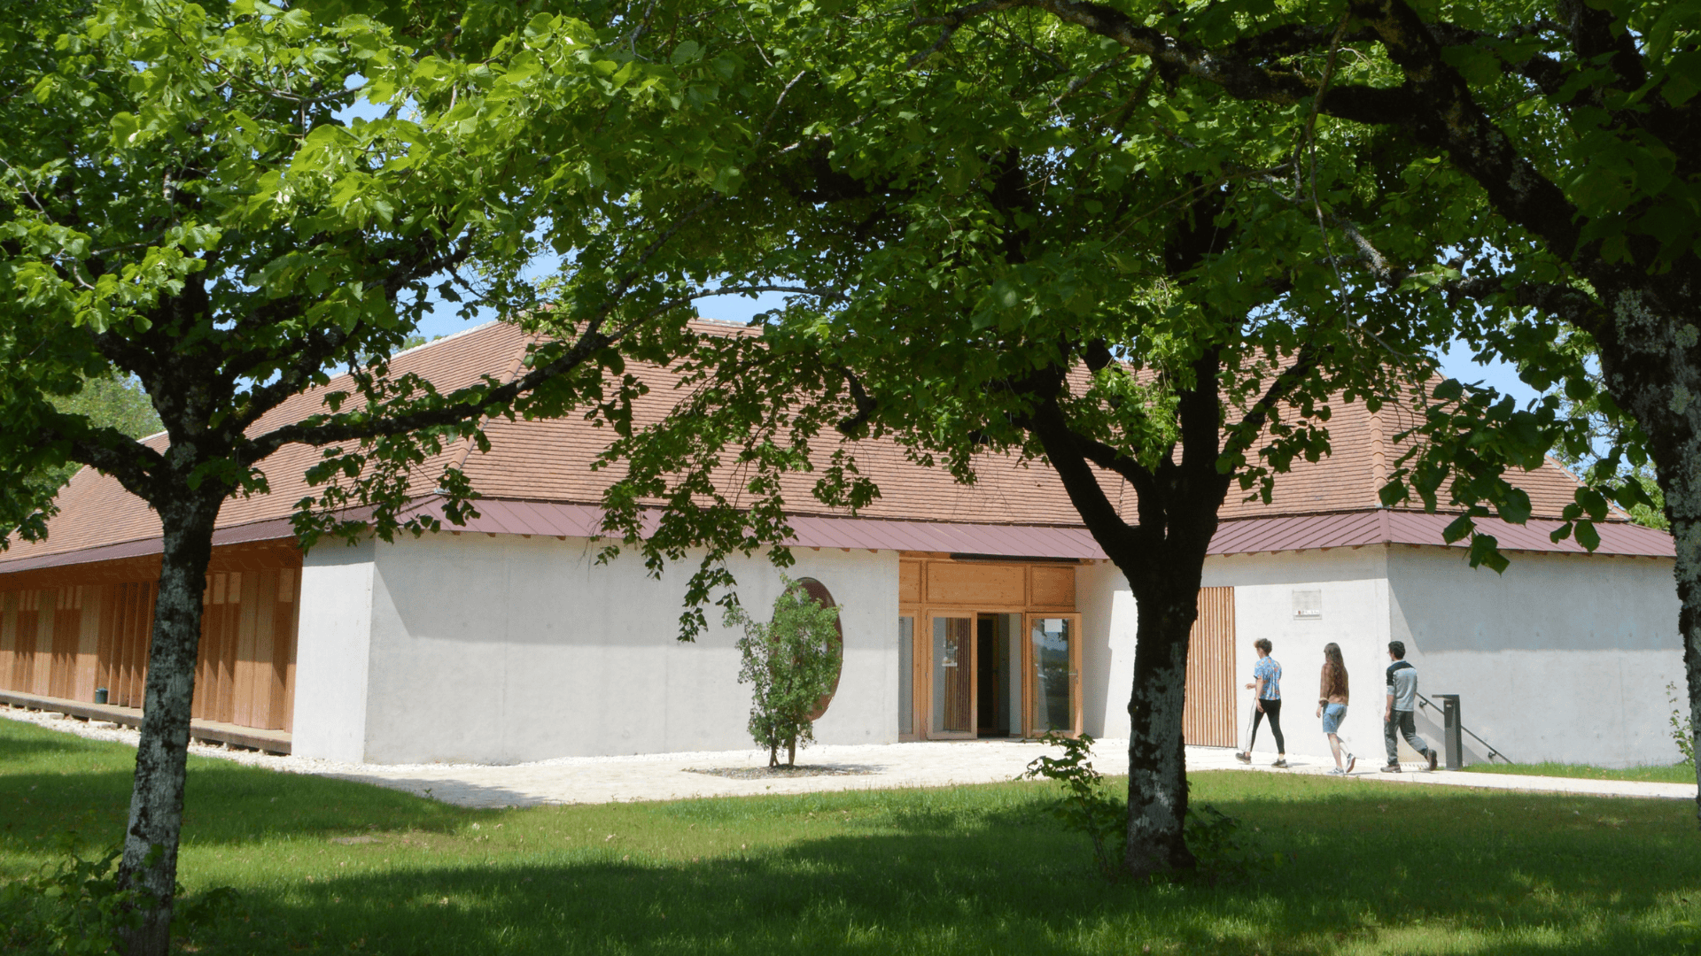
{"type": "MultiPolygon", "coordinates": [[[[706,636],[677,641],[692,565],[657,582],[629,555],[597,565],[597,549],[585,539],[483,534],[378,544],[361,759],[502,764],[750,747],[737,633],[711,612],[706,636]]],[[[794,556],[788,573],[827,585],[845,631],[839,692],[816,738],[896,740],[896,553],[794,556]]],[[[779,573],[764,558],[733,570],[745,606],[765,616],[779,573]]],[[[303,646],[332,643],[308,636],[311,599],[303,600],[303,646]]],[[[298,692],[298,721],[306,699],[298,692]]],[[[304,752],[299,731],[296,748],[304,752]]]]}

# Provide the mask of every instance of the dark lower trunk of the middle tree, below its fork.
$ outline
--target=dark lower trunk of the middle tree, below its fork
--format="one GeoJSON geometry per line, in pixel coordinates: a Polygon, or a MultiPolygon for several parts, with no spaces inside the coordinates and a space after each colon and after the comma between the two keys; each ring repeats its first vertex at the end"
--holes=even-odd
{"type": "MultiPolygon", "coordinates": [[[[1194,577],[1198,572],[1194,568],[1194,577]]],[[[1135,687],[1128,699],[1128,849],[1123,857],[1133,876],[1194,866],[1184,832],[1187,755],[1180,718],[1187,640],[1199,616],[1196,592],[1198,587],[1182,597],[1136,599],[1135,687]]]]}

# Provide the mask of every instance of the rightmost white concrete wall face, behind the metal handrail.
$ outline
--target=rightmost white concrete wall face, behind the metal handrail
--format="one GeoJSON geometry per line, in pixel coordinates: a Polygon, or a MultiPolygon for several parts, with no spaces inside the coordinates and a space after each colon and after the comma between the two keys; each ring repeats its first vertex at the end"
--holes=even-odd
{"type": "MultiPolygon", "coordinates": [[[[1512,555],[1497,575],[1454,549],[1395,548],[1388,570],[1393,638],[1419,689],[1459,694],[1465,726],[1490,745],[1519,762],[1679,759],[1665,694],[1684,682],[1670,560],[1512,555]]],[[[1436,738],[1437,723],[1424,728],[1436,738]]]]}

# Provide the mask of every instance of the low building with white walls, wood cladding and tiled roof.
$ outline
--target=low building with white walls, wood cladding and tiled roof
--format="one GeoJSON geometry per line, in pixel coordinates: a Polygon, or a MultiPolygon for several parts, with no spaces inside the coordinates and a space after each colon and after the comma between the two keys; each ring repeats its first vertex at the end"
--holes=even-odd
{"type": "MultiPolygon", "coordinates": [[[[514,374],[524,345],[493,323],[393,367],[447,390],[514,374]]],[[[645,374],[667,393],[667,373],[645,374]]],[[[274,415],[316,401],[296,396],[274,415]]],[[[1490,522],[1510,570],[1471,570],[1463,548],[1441,544],[1449,515],[1376,504],[1398,410],[1335,412],[1334,456],[1279,476],[1272,505],[1225,507],[1189,662],[1187,740],[1232,747],[1245,733],[1240,686],[1252,641],[1267,636],[1286,665],[1289,748],[1327,752],[1308,704],[1322,646],[1337,641],[1356,691],[1347,735],[1380,754],[1385,646],[1400,638],[1422,691],[1459,694],[1465,725],[1516,760],[1675,760],[1670,536],[1607,522],[1594,555],[1548,541],[1575,488],[1550,463],[1519,478],[1538,517],[1490,522]]],[[[488,435],[488,454],[444,451],[485,495],[480,517],[393,544],[303,555],[287,514],[315,452],[286,447],[264,463],[274,492],[231,500],[216,532],[197,737],[379,764],[748,747],[735,634],[675,640],[689,568],[651,580],[631,556],[595,561],[604,478],[587,464],[606,432],[578,418],[497,420],[488,435]]],[[[844,669],[816,737],[1126,735],[1136,609],[1051,473],[1000,459],[961,487],[895,446],[861,442],[857,454],[883,493],[859,515],[791,495],[789,573],[842,609],[844,669]]],[[[105,691],[99,713],[133,718],[158,521],[88,469],[60,505],[46,541],[0,555],[0,699],[87,709],[105,691]]],[[[437,507],[429,485],[413,507],[437,507]]],[[[735,570],[747,606],[777,597],[765,560],[735,570]]],[[[1431,740],[1437,721],[1419,716],[1431,740]]],[[[1259,745],[1271,747],[1267,733],[1259,745]]],[[[1487,755],[1466,745],[1470,759],[1487,755]]]]}

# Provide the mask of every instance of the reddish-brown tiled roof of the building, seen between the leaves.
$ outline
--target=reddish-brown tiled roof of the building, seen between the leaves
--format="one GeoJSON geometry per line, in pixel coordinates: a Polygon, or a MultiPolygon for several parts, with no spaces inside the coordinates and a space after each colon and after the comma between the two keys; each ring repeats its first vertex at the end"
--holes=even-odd
{"type": "MultiPolygon", "coordinates": [[[[447,391],[475,383],[486,373],[498,378],[512,376],[526,347],[527,337],[521,330],[490,323],[403,352],[393,359],[391,367],[396,373],[418,373],[447,391]]],[[[651,393],[636,413],[640,422],[646,422],[658,418],[672,405],[670,395],[675,391],[677,376],[670,369],[653,366],[643,367],[641,374],[650,383],[651,393]]],[[[347,379],[338,378],[325,388],[298,395],[269,413],[257,429],[306,417],[321,408],[327,391],[347,386],[347,379]]],[[[1334,412],[1330,420],[1334,452],[1317,464],[1300,463],[1294,471],[1279,475],[1271,505],[1242,502],[1238,488],[1230,490],[1230,500],[1223,507],[1225,522],[1376,509],[1376,488],[1398,456],[1393,435],[1407,427],[1412,413],[1383,408],[1373,415],[1357,403],[1337,405],[1334,412]]],[[[429,498],[446,461],[464,461],[464,469],[481,495],[509,502],[592,505],[611,480],[611,473],[594,473],[589,464],[612,435],[592,427],[582,415],[538,422],[497,420],[488,424],[486,434],[492,442],[490,452],[469,451],[463,442],[446,447],[442,454],[420,466],[413,493],[429,498]]],[[[153,447],[162,447],[163,441],[163,435],[146,439],[153,447]]],[[[920,468],[907,461],[903,449],[895,442],[862,441],[856,442],[854,449],[861,471],[881,490],[881,497],[859,514],[864,521],[1080,527],[1080,517],[1043,463],[1024,464],[1009,456],[985,456],[978,468],[978,481],[964,487],[942,469],[920,468]]],[[[315,449],[289,446],[265,459],[262,469],[270,483],[270,493],[230,500],[219,515],[219,529],[286,519],[294,502],[311,493],[303,475],[316,458],[315,449]]],[[[1135,495],[1126,483],[1112,475],[1104,475],[1102,481],[1123,514],[1133,517],[1135,495]]],[[[1577,487],[1577,481],[1551,461],[1538,471],[1516,475],[1514,481],[1529,493],[1538,517],[1556,517],[1577,487]]],[[[816,504],[810,495],[811,485],[810,475],[788,480],[786,498],[793,514],[820,519],[847,517],[816,504]]],[[[117,481],[92,469],[83,469],[71,480],[60,495],[60,507],[61,512],[48,526],[48,541],[14,541],[10,551],[0,556],[0,573],[39,566],[54,555],[80,553],[73,561],[83,561],[94,560],[97,553],[116,553],[112,548],[126,553],[134,548],[156,548],[143,544],[160,536],[155,514],[126,493],[117,481]],[[83,551],[87,555],[82,555],[83,551]]],[[[488,507],[492,514],[497,512],[493,504],[488,507]]],[[[284,524],[267,524],[267,527],[281,529],[279,534],[287,532],[284,524]]],[[[801,527],[805,524],[799,524],[801,527]]],[[[1340,532],[1337,526],[1330,527],[1334,531],[1328,534],[1340,532]]],[[[1225,532],[1228,529],[1225,524],[1225,532]]],[[[868,529],[857,534],[864,532],[871,534],[868,529]]],[[[1301,539],[1310,538],[1301,536],[1301,539]]],[[[1539,539],[1545,541],[1546,534],[1543,532],[1539,539]]],[[[1439,543],[1439,532],[1431,543],[1439,543]]],[[[1249,548],[1286,549],[1266,544],[1269,539],[1260,538],[1255,548],[1252,544],[1249,548]]],[[[61,561],[65,558],[53,563],[61,561]]]]}

